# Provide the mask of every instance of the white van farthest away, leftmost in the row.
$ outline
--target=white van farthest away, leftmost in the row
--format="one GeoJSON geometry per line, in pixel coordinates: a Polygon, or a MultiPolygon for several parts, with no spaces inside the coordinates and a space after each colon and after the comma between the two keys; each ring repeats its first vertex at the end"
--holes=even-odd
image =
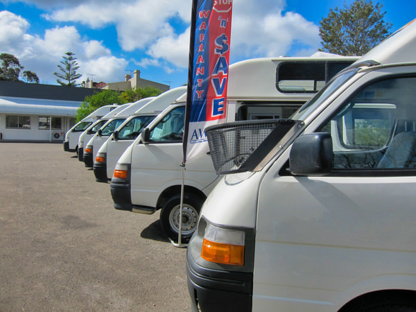
{"type": "Polygon", "coordinates": [[[80,137],[81,133],[85,131],[92,125],[94,121],[97,121],[102,116],[114,110],[118,105],[105,105],[103,107],[97,108],[86,116],[83,120],[78,121],[71,129],[68,130],[67,134],[65,135],[64,141],[64,151],[65,152],[76,152],[78,150],[78,138],[80,137]]]}

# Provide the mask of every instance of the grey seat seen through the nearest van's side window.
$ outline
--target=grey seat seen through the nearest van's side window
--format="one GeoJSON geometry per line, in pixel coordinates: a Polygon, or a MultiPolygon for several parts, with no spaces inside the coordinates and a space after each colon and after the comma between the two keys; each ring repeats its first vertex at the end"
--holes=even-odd
{"type": "Polygon", "coordinates": [[[395,135],[377,168],[416,168],[416,132],[395,135]]]}

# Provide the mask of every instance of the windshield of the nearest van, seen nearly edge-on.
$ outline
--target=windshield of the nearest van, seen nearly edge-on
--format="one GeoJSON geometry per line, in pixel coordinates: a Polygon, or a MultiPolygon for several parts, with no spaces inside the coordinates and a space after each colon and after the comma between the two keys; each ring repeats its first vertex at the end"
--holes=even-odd
{"type": "Polygon", "coordinates": [[[293,120],[305,120],[311,112],[313,112],[316,107],[321,105],[322,102],[324,102],[333,92],[335,92],[338,87],[343,85],[345,81],[349,80],[352,76],[356,74],[356,72],[359,70],[359,68],[354,68],[349,71],[346,71],[345,73],[341,74],[340,76],[336,76],[333,80],[329,81],[329,83],[313,98],[311,98],[311,101],[307,102],[305,105],[303,105],[300,110],[295,112],[291,116],[291,119],[293,120]]]}

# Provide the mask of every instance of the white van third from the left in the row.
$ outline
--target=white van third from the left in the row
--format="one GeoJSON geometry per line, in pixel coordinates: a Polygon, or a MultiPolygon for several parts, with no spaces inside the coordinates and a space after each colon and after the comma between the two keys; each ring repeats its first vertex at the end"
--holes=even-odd
{"type": "Polygon", "coordinates": [[[88,140],[85,141],[85,148],[83,152],[83,162],[86,167],[92,167],[94,164],[94,158],[96,151],[100,148],[101,144],[112,134],[112,132],[125,121],[131,114],[139,110],[141,107],[146,105],[152,98],[142,98],[135,103],[128,103],[123,110],[111,116],[105,123],[97,130],[97,132],[88,140]],[[95,148],[95,150],[94,150],[95,148]]]}

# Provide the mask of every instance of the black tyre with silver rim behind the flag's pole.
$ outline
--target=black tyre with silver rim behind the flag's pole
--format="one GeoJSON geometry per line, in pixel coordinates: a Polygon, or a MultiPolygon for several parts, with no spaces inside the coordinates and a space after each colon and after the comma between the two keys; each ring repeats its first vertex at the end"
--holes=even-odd
{"type": "MultiPolygon", "coordinates": [[[[191,193],[184,194],[182,208],[181,242],[187,243],[198,224],[198,217],[204,200],[191,193]]],[[[177,242],[180,220],[180,195],[169,199],[160,211],[160,224],[169,239],[177,242]]]]}

